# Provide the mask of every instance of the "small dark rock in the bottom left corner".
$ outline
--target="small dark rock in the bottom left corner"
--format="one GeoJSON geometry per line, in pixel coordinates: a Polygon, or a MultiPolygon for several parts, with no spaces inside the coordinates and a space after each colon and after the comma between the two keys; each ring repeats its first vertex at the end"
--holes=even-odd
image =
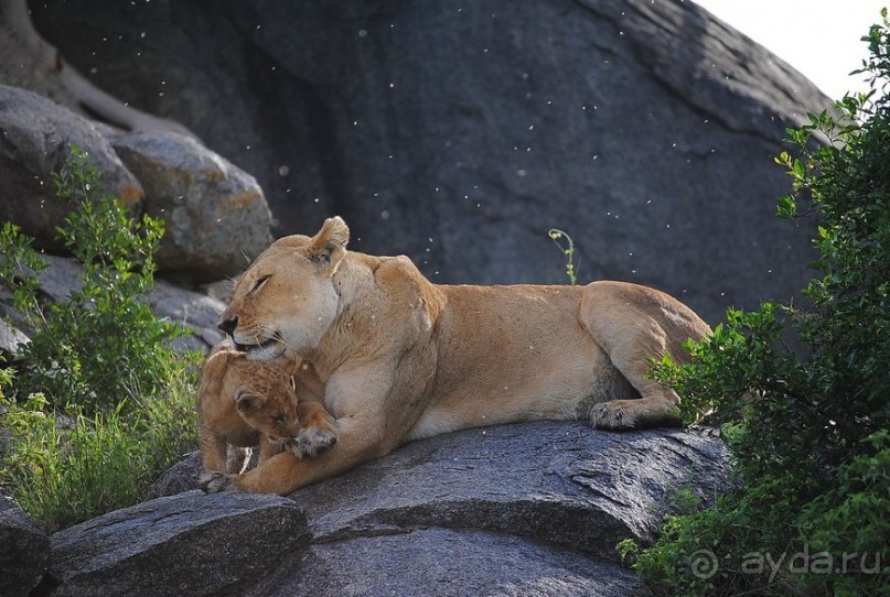
{"type": "Polygon", "coordinates": [[[28,595],[50,566],[50,538],[0,495],[0,595],[28,595]]]}

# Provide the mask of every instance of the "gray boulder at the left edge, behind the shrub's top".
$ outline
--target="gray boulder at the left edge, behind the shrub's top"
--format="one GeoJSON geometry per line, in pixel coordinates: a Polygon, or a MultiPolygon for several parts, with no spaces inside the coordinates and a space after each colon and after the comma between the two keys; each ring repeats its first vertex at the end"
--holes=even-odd
{"type": "Polygon", "coordinates": [[[142,186],[93,122],[36,94],[0,85],[0,221],[18,224],[44,247],[58,247],[55,227],[72,210],[55,196],[52,176],[71,144],[101,169],[106,193],[141,209],[142,186]]]}

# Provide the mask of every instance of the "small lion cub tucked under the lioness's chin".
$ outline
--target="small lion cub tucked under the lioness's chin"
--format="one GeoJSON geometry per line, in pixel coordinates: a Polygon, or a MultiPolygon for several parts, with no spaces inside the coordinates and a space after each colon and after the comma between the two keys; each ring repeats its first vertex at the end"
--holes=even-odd
{"type": "Polygon", "coordinates": [[[339,433],[319,402],[322,394],[314,369],[297,357],[257,362],[226,343],[217,345],[201,371],[195,400],[204,468],[239,473],[244,451],[229,458],[229,446],[259,445],[260,463],[285,449],[299,458],[324,452],[339,433]]]}

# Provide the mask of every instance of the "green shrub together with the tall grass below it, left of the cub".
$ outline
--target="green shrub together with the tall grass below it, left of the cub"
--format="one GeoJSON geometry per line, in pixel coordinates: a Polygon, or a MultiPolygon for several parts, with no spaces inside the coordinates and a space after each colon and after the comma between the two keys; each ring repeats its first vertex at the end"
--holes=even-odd
{"type": "Polygon", "coordinates": [[[73,204],[57,232],[84,267],[79,287],[44,304],[47,265],[32,239],[10,222],[0,231],[0,284],[33,330],[0,376],[0,423],[13,436],[0,482],[47,531],[138,501],[194,446],[196,426],[197,355],[178,354],[185,330],[144,302],[163,222],[103,195],[77,148],[55,184],[73,204]]]}

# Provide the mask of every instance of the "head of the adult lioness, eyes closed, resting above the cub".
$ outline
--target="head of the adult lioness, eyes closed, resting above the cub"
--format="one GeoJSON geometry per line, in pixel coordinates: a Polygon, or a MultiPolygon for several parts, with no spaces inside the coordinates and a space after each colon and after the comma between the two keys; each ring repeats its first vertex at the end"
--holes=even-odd
{"type": "Polygon", "coordinates": [[[332,218],[314,237],[277,240],[235,284],[219,328],[251,360],[269,361],[286,348],[315,348],[337,314],[333,275],[345,256],[349,228],[332,218]]]}

